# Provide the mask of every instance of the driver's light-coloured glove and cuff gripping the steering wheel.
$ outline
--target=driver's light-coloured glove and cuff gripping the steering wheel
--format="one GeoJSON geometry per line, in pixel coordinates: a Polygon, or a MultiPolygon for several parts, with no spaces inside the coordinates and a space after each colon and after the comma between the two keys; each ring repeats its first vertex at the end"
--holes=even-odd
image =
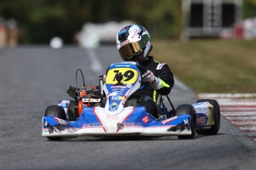
{"type": "Polygon", "coordinates": [[[150,70],[147,70],[144,75],[142,75],[142,81],[148,83],[153,89],[160,89],[162,85],[160,79],[154,76],[154,73],[150,70]]]}

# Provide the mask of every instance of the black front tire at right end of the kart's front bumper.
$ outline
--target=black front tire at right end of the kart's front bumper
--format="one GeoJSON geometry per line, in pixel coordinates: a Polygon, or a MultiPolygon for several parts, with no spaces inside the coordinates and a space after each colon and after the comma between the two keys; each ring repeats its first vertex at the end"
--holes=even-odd
{"type": "Polygon", "coordinates": [[[179,139],[192,139],[196,135],[196,125],[197,125],[197,118],[196,112],[194,107],[190,104],[182,104],[177,106],[176,115],[191,115],[190,120],[190,129],[192,134],[191,135],[180,135],[178,136],[179,139]]]}

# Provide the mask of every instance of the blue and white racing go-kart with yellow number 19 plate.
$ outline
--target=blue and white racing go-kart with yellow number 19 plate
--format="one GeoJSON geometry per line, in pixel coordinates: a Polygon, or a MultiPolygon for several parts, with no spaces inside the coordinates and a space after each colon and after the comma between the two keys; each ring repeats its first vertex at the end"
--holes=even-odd
{"type": "Polygon", "coordinates": [[[134,135],[175,135],[180,139],[191,139],[196,132],[202,135],[217,134],[220,129],[217,101],[199,100],[175,109],[170,98],[165,96],[171,106],[168,111],[163,102],[164,96],[159,95],[156,105],[160,118],[154,118],[144,106],[133,104],[129,97],[146,86],[141,80],[140,71],[145,70],[136,62],[121,62],[108,67],[105,78],[99,77],[99,86],[88,88],[84,81],[79,89],[76,80],[76,86],[68,88],[68,94],[74,101],[61,101],[47,107],[42,118],[42,136],[49,140],[134,135]]]}

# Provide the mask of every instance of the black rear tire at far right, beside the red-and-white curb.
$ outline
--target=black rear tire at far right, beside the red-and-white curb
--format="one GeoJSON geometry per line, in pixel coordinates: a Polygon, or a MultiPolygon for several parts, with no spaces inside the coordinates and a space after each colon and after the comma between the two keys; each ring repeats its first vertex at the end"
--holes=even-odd
{"type": "Polygon", "coordinates": [[[208,101],[213,106],[214,125],[210,129],[197,129],[198,135],[216,135],[220,129],[220,106],[219,103],[211,99],[198,100],[197,103],[208,101]]]}

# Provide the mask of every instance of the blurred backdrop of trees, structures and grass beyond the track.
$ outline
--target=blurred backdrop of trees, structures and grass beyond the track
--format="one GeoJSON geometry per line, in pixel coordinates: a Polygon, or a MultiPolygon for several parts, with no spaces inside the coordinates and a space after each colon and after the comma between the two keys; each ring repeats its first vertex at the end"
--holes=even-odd
{"type": "Polygon", "coordinates": [[[256,91],[256,0],[1,0],[0,17],[0,49],[111,44],[117,52],[119,30],[140,24],[151,55],[194,92],[256,91]]]}

